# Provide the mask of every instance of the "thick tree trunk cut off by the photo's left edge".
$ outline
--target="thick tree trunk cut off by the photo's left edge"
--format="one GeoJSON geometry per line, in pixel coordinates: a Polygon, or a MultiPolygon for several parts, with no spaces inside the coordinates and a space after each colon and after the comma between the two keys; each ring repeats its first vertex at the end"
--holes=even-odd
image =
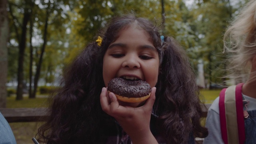
{"type": "Polygon", "coordinates": [[[0,108],[6,107],[6,82],[7,82],[7,41],[8,41],[8,16],[6,11],[7,0],[0,0],[0,108]]]}

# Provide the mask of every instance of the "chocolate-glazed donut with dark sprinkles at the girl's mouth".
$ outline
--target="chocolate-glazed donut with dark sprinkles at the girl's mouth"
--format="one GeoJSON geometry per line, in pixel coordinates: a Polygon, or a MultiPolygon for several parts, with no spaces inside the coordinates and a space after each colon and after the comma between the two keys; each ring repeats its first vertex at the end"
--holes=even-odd
{"type": "Polygon", "coordinates": [[[108,91],[123,102],[142,102],[150,97],[151,87],[143,80],[113,78],[108,83],[108,91]]]}

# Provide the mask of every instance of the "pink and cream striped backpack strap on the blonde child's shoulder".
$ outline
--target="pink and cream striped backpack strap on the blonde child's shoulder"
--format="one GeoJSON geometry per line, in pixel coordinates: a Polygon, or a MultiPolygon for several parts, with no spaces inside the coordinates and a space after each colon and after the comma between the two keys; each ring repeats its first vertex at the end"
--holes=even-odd
{"type": "Polygon", "coordinates": [[[225,144],[244,144],[242,85],[230,86],[220,92],[220,127],[225,144]]]}

